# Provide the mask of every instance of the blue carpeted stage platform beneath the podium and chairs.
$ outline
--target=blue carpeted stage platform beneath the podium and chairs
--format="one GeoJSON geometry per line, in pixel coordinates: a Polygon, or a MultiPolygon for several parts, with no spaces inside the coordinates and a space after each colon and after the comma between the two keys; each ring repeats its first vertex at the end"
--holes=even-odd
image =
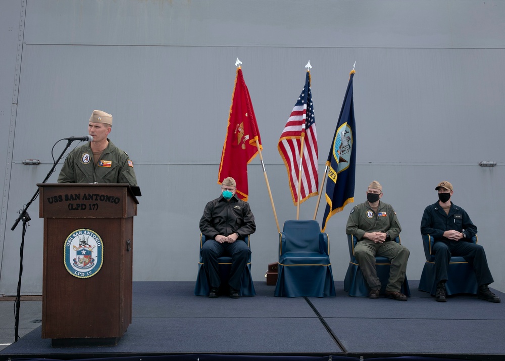
{"type": "Polygon", "coordinates": [[[410,281],[412,296],[398,302],[349,297],[342,281],[335,298],[274,297],[274,286],[256,282],[257,295],[240,299],[194,296],[193,282],[134,282],[133,321],[118,345],[52,347],[37,327],[0,360],[505,359],[505,302],[459,295],[439,303],[417,286],[410,281]]]}

